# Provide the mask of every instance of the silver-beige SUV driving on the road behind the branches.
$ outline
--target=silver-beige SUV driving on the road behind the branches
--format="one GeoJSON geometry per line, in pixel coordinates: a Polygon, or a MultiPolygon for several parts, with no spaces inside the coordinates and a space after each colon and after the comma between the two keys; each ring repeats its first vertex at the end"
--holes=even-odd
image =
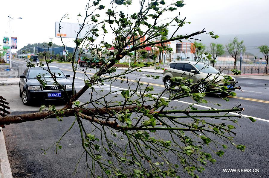
{"type": "MultiPolygon", "coordinates": [[[[202,62],[192,62],[192,61],[174,61],[170,62],[163,72],[163,82],[165,88],[170,88],[173,85],[177,85],[171,80],[172,77],[184,77],[187,79],[192,79],[193,81],[189,84],[199,83],[205,79],[205,82],[201,82],[198,87],[198,92],[202,93],[208,90],[216,90],[212,85],[205,88],[207,82],[214,80],[216,85],[227,86],[228,90],[235,90],[235,78],[231,77],[231,80],[228,82],[229,85],[224,84],[221,80],[224,79],[223,76],[227,76],[224,73],[219,73],[214,67],[209,64],[202,62]],[[207,77],[208,74],[211,74],[210,77],[207,77]]],[[[186,82],[185,85],[188,85],[186,82]]]]}

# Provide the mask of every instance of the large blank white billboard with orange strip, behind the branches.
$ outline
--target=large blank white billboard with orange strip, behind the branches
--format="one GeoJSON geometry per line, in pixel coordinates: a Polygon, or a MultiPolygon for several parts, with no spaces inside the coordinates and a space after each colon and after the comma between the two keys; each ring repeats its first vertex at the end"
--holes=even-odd
{"type": "MultiPolygon", "coordinates": [[[[55,37],[62,38],[77,38],[77,33],[80,31],[80,25],[78,23],[55,22],[55,37]]],[[[92,26],[88,26],[82,29],[78,38],[83,38],[87,33],[87,28],[91,29],[92,26]]]]}

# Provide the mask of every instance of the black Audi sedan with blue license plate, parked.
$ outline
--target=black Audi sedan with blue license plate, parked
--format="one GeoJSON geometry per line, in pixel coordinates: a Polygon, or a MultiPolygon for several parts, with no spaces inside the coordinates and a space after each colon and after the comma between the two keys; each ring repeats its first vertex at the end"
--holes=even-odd
{"type": "MultiPolygon", "coordinates": [[[[48,69],[47,67],[44,67],[48,69]]],[[[68,97],[72,96],[72,82],[68,79],[70,75],[64,75],[62,70],[55,66],[49,66],[51,73],[56,76],[56,81],[61,85],[54,84],[51,74],[41,67],[28,67],[23,75],[20,76],[19,88],[20,97],[24,105],[30,105],[33,101],[68,101],[68,97]],[[37,76],[41,76],[41,80],[46,82],[43,87],[37,80],[37,76]],[[66,93],[63,88],[65,88],[66,93]]]]}

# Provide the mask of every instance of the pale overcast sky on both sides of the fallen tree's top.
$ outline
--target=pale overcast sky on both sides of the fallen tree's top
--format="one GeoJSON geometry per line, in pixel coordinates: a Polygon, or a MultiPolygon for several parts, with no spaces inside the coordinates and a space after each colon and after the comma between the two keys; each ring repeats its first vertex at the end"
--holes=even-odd
{"type": "MultiPolygon", "coordinates": [[[[167,4],[169,1],[166,0],[167,4]]],[[[77,14],[83,13],[87,2],[86,0],[3,0],[0,10],[0,34],[2,37],[9,36],[8,15],[13,18],[22,17],[20,20],[10,22],[11,36],[17,37],[18,49],[28,43],[48,42],[49,38],[54,38],[53,43],[61,45],[59,38],[55,37],[55,22],[59,21],[65,13],[70,14],[67,22],[76,22],[77,14]]],[[[108,2],[110,0],[103,0],[101,4],[108,5],[108,2]]],[[[138,8],[136,5],[138,0],[133,2],[130,11],[138,8]]],[[[214,31],[218,35],[269,31],[269,1],[267,0],[185,0],[184,3],[186,4],[184,7],[169,14],[169,16],[176,16],[180,12],[181,18],[187,17],[186,21],[192,22],[184,26],[178,34],[200,31],[203,28],[214,31]]],[[[72,39],[65,39],[67,46],[70,47],[74,46],[72,41],[72,39]]]]}

